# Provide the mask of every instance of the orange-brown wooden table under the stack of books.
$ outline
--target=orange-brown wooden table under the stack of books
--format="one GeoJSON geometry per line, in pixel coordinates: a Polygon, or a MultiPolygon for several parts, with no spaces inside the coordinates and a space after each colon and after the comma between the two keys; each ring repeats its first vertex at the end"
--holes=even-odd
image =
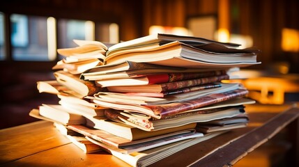
{"type": "MultiPolygon", "coordinates": [[[[232,166],[285,127],[291,129],[291,164],[299,166],[299,109],[292,105],[246,106],[250,124],[198,143],[152,166],[232,166]]],[[[38,121],[0,130],[1,166],[129,166],[106,152],[84,154],[52,122],[38,121]]]]}

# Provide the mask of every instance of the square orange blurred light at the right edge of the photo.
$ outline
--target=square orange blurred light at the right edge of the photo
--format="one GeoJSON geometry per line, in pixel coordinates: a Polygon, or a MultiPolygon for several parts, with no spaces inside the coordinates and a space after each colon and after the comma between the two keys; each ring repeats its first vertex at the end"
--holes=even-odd
{"type": "Polygon", "coordinates": [[[282,29],[282,50],[299,51],[299,31],[296,29],[282,29]]]}

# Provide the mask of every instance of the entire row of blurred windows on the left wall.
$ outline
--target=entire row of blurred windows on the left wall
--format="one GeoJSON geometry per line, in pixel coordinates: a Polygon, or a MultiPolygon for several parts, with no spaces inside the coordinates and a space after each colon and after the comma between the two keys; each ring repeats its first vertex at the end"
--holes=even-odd
{"type": "Polygon", "coordinates": [[[10,26],[5,26],[5,15],[0,13],[0,61],[54,63],[62,58],[57,58],[56,49],[77,47],[74,39],[118,42],[118,24],[115,23],[12,14],[8,15],[10,26]],[[5,38],[8,27],[10,41],[5,38]]]}

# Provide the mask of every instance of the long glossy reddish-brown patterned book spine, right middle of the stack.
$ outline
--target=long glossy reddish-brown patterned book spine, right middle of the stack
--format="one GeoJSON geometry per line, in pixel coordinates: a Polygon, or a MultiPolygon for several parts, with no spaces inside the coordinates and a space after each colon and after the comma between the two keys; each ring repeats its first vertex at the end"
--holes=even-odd
{"type": "Polygon", "coordinates": [[[199,97],[195,100],[185,101],[185,102],[162,104],[162,105],[155,105],[155,106],[148,105],[145,107],[151,109],[151,111],[153,111],[155,115],[164,118],[166,116],[175,115],[183,111],[197,109],[202,106],[208,106],[210,104],[215,104],[217,102],[231,100],[236,97],[243,97],[247,95],[247,93],[248,90],[237,89],[225,93],[215,93],[204,97],[199,97]]]}

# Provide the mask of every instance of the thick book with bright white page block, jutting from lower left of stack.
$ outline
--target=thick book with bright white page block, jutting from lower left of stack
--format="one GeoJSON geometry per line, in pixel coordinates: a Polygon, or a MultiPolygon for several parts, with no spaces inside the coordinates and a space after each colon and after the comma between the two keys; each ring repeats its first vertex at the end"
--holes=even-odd
{"type": "Polygon", "coordinates": [[[45,118],[61,122],[63,125],[77,125],[86,122],[83,116],[73,113],[58,104],[43,104],[39,106],[39,114],[45,118]]]}

